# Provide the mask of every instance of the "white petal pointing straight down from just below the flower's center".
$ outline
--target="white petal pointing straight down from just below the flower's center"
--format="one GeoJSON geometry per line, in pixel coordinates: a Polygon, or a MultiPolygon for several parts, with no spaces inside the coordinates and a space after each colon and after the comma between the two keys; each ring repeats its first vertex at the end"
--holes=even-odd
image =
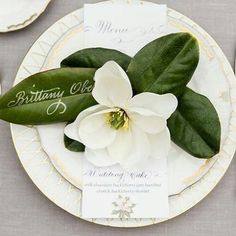
{"type": "Polygon", "coordinates": [[[132,133],[129,130],[118,130],[113,143],[107,147],[109,155],[117,163],[123,163],[132,149],[132,133]]]}

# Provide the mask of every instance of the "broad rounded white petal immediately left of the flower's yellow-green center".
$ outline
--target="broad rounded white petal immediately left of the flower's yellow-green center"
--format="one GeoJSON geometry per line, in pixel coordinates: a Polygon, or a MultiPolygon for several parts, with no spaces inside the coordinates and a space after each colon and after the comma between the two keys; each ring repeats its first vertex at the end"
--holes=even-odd
{"type": "Polygon", "coordinates": [[[112,109],[94,113],[80,122],[79,137],[85,146],[105,148],[114,141],[117,130],[110,127],[106,117],[110,111],[112,109]]]}

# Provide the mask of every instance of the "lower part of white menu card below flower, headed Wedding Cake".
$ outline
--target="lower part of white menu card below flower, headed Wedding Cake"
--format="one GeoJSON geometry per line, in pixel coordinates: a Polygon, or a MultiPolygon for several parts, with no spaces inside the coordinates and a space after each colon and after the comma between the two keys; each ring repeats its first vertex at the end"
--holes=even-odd
{"type": "Polygon", "coordinates": [[[140,171],[84,163],[84,218],[166,218],[169,214],[166,159],[140,171]]]}

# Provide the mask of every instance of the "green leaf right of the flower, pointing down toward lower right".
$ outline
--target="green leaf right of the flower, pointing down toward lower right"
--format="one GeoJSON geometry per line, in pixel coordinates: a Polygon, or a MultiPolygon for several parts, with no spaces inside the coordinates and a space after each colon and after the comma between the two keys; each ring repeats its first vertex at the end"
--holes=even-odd
{"type": "Polygon", "coordinates": [[[219,152],[219,117],[208,98],[189,88],[178,98],[178,108],[168,120],[171,139],[189,154],[211,158],[219,152]]]}

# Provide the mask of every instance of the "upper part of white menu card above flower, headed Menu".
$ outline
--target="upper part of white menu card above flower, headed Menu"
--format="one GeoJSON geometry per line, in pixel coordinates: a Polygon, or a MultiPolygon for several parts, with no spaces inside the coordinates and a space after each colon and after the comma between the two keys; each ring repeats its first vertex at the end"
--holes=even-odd
{"type": "Polygon", "coordinates": [[[166,32],[166,5],[85,4],[85,47],[106,47],[133,56],[166,32]]]}

